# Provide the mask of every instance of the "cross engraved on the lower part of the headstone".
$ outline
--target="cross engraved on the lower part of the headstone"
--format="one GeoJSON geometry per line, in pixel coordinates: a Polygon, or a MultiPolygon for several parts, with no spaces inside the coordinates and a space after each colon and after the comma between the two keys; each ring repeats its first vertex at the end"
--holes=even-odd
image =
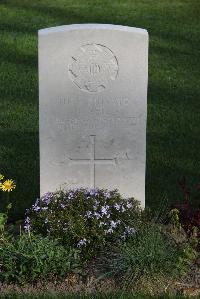
{"type": "Polygon", "coordinates": [[[71,159],[73,164],[90,166],[90,187],[96,187],[96,165],[116,165],[114,159],[97,159],[96,158],[96,135],[90,135],[90,157],[89,159],[71,159]]]}

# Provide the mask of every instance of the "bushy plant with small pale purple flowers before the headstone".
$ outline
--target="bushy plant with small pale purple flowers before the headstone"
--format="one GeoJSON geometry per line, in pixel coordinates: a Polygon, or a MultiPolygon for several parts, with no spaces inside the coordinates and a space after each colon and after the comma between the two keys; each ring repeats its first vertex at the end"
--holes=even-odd
{"type": "Polygon", "coordinates": [[[107,243],[125,240],[135,233],[139,203],[123,199],[116,191],[74,189],[47,193],[28,212],[25,228],[60,237],[64,244],[79,247],[84,259],[107,243]]]}

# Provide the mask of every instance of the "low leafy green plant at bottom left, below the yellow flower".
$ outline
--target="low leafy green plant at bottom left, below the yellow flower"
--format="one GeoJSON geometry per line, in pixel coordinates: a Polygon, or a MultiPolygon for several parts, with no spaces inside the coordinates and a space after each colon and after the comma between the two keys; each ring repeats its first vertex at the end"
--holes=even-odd
{"type": "Polygon", "coordinates": [[[0,244],[0,281],[34,282],[63,278],[80,269],[79,252],[57,240],[23,234],[0,244]]]}

